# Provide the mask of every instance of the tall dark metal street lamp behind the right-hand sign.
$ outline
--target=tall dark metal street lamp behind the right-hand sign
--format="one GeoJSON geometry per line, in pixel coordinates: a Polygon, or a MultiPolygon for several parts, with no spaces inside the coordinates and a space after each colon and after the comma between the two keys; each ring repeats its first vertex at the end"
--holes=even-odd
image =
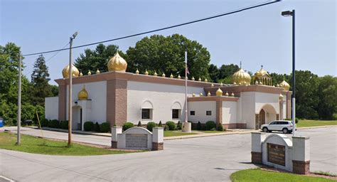
{"type": "Polygon", "coordinates": [[[292,95],[291,95],[291,118],[292,118],[292,135],[295,136],[295,10],[282,11],[282,16],[292,16],[292,95]]]}

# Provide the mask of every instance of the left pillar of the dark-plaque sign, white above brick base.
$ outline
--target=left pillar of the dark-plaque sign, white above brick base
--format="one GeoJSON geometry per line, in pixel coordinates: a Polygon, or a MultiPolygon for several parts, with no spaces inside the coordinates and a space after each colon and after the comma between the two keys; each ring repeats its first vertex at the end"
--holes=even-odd
{"type": "Polygon", "coordinates": [[[262,164],[262,141],[266,138],[265,133],[252,132],[252,163],[262,164]]]}

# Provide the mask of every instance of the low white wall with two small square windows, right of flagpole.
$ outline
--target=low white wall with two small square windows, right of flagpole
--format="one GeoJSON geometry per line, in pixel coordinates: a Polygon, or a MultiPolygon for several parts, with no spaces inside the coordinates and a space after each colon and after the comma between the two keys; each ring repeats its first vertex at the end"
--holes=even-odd
{"type": "Polygon", "coordinates": [[[216,102],[215,101],[201,101],[188,102],[188,121],[193,123],[206,123],[208,121],[216,122],[216,102]],[[195,111],[196,115],[191,116],[190,111],[195,111]],[[206,111],[211,111],[212,115],[206,115],[206,111]]]}

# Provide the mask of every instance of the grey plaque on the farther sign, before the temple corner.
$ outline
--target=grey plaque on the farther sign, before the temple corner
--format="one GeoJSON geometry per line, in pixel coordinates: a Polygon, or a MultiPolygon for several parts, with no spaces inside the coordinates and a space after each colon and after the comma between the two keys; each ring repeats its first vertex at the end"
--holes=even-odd
{"type": "Polygon", "coordinates": [[[126,134],[125,139],[128,149],[147,148],[147,134],[126,134]]]}

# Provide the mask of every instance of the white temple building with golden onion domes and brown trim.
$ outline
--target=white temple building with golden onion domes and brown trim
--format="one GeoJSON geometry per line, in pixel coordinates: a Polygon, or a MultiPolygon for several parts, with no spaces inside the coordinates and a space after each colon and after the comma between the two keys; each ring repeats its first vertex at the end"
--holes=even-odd
{"type": "MultiPolygon", "coordinates": [[[[172,75],[127,73],[127,62],[114,55],[109,72],[82,75],[73,69],[73,129],[83,129],[87,121],[109,122],[183,122],[185,119],[185,80],[172,75]]],[[[58,97],[46,97],[46,119],[68,120],[68,72],[58,83],[58,97]]],[[[261,124],[291,117],[289,84],[272,85],[272,77],[261,68],[253,77],[242,68],[232,85],[188,80],[188,121],[196,124],[214,121],[226,129],[259,129],[261,124]]]]}

